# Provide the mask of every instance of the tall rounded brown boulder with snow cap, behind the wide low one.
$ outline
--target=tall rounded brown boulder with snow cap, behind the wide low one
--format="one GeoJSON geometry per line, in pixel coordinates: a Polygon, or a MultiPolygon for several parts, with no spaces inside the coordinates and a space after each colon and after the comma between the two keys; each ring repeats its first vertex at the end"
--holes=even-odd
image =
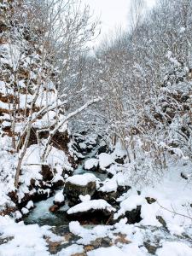
{"type": "Polygon", "coordinates": [[[73,175],[66,180],[64,193],[71,205],[79,202],[79,195],[94,195],[96,192],[96,176],[91,173],[73,175]]]}

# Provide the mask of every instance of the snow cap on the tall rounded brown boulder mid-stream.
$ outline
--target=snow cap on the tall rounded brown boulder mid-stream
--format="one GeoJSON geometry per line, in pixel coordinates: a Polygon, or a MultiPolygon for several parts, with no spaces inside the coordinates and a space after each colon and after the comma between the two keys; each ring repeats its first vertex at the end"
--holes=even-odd
{"type": "Polygon", "coordinates": [[[67,177],[66,182],[73,183],[79,186],[86,186],[88,183],[95,183],[96,176],[92,173],[84,173],[73,175],[72,177],[67,177]]]}

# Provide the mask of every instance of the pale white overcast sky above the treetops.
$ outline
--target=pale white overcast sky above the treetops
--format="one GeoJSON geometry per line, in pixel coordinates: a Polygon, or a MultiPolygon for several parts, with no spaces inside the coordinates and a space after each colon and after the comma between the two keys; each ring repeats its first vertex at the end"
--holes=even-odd
{"type": "MultiPolygon", "coordinates": [[[[154,5],[155,0],[146,0],[148,7],[154,5]]],[[[115,27],[125,28],[128,25],[128,13],[131,0],[83,0],[88,3],[90,9],[102,21],[102,33],[97,39],[100,40],[103,35],[112,32],[115,27]]]]}

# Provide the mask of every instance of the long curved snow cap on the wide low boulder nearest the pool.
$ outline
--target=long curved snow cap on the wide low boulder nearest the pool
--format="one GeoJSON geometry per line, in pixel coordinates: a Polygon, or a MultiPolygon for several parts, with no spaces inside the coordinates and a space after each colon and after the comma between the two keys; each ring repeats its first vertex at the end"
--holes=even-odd
{"type": "Polygon", "coordinates": [[[90,210],[107,210],[108,212],[115,212],[115,208],[108,204],[107,201],[103,199],[83,201],[78,205],[71,207],[67,214],[74,214],[77,212],[88,212],[90,210]]]}

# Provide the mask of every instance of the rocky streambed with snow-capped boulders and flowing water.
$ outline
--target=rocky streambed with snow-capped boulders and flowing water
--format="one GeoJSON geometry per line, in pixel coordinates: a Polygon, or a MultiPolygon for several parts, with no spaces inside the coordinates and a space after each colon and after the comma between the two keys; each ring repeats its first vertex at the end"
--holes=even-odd
{"type": "MultiPolygon", "coordinates": [[[[84,144],[81,147],[85,148],[84,144]]],[[[47,200],[35,203],[35,207],[24,218],[25,224],[49,225],[50,230],[61,237],[61,241],[51,241],[45,237],[49,253],[85,256],[92,255],[89,252],[101,247],[113,247],[116,255],[121,255],[119,248],[134,247],[137,244],[134,250],[142,252],[141,255],[159,255],[158,250],[167,244],[190,247],[191,226],[183,228],[181,234],[172,232],[161,216],[156,217],[154,226],[141,224],[142,207],[154,209],[155,198],[143,197],[137,190],[135,194],[131,191],[133,195],[127,196],[131,187],[124,186],[122,180],[119,182],[118,176],[113,179],[114,162],[109,157],[102,161],[101,166],[99,160],[107,154],[100,152],[100,159],[98,148],[95,145],[90,152],[84,154],[84,160],[73,172],[73,176],[67,177],[64,188],[55,191],[55,195],[47,200]],[[106,169],[108,172],[105,172],[106,169]],[[119,201],[124,195],[127,199],[119,201]],[[74,249],[75,253],[67,254],[68,248],[74,249]]],[[[117,169],[122,160],[123,157],[119,157],[116,162],[117,169]]],[[[96,255],[99,255],[99,251],[96,255]]]]}

